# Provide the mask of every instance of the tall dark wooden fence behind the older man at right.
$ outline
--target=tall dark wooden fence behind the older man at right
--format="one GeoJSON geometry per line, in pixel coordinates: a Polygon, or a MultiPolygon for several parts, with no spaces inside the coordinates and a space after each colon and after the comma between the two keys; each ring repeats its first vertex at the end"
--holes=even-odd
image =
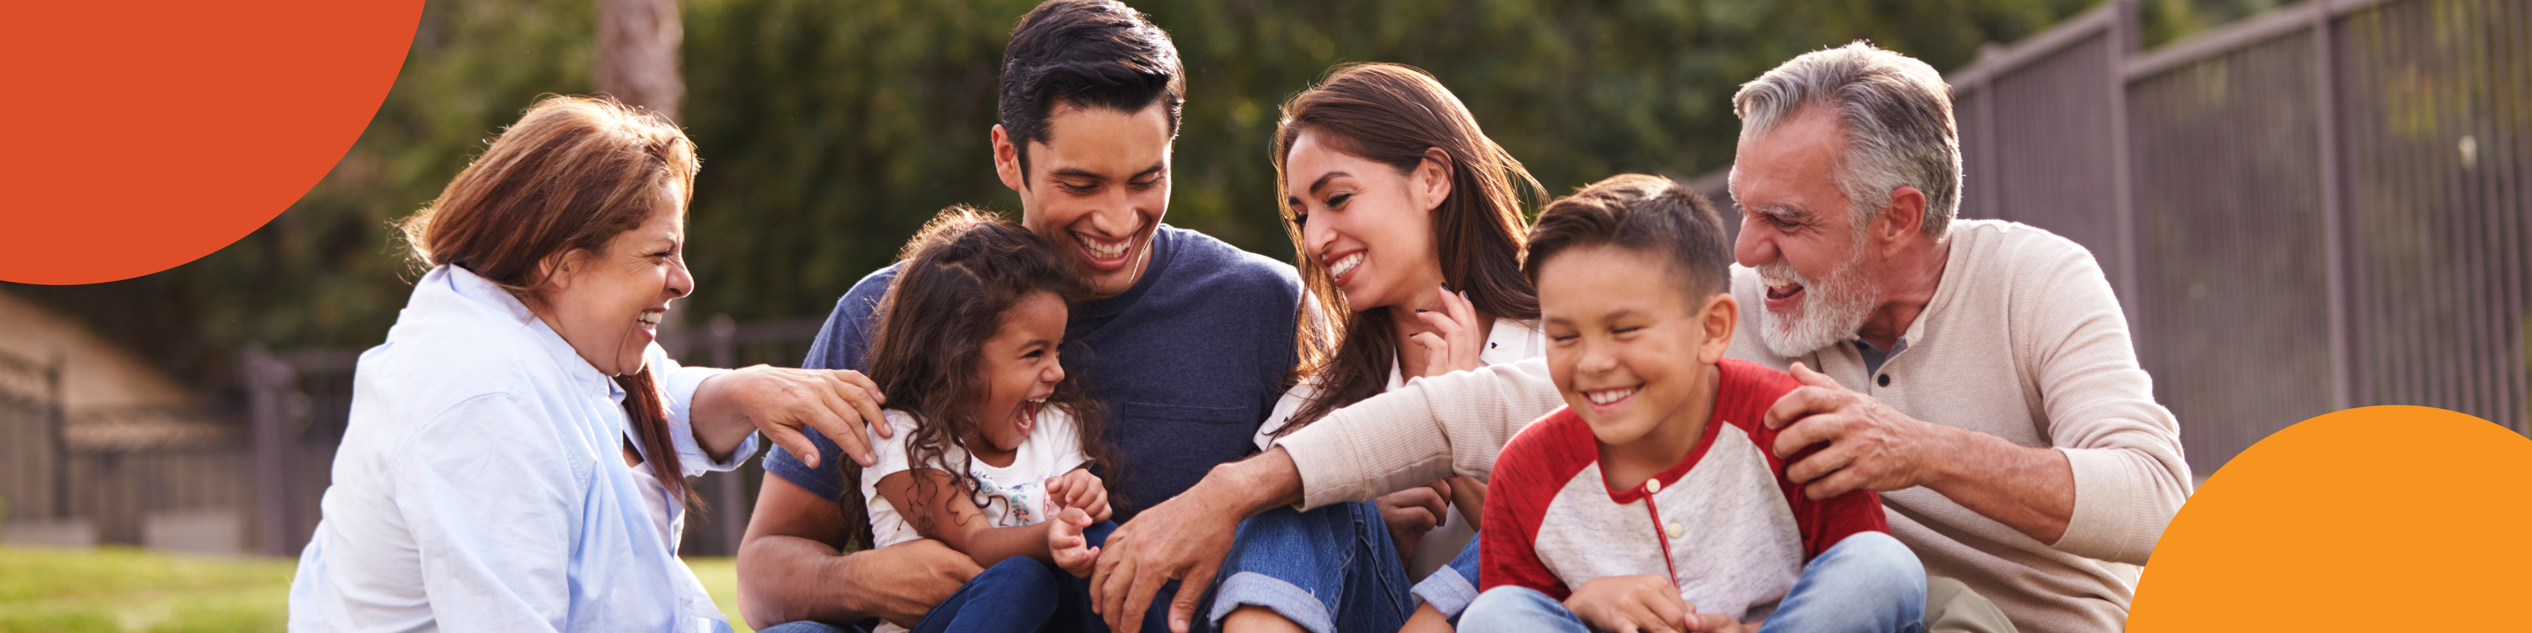
{"type": "Polygon", "coordinates": [[[2532,3],[2134,25],[2104,3],[1950,76],[1962,215],[2091,248],[2190,468],[2360,405],[2527,430],[2532,3]]]}

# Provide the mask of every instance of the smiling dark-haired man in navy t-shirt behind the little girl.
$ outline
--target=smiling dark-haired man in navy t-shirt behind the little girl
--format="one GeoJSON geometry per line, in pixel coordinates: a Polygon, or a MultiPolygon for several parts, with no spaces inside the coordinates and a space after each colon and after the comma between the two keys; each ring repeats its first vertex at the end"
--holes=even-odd
{"type": "MultiPolygon", "coordinates": [[[[1119,522],[1251,453],[1296,362],[1294,268],[1160,223],[1182,76],[1170,35],[1114,0],[1048,0],[1003,51],[993,167],[1020,192],[1020,223],[1091,286],[1094,299],[1071,304],[1063,360],[1109,410],[1124,461],[1112,486],[1119,522]]],[[[894,276],[881,268],[836,301],[805,367],[863,370],[871,311],[894,276]]],[[[980,572],[932,539],[841,555],[841,468],[868,463],[868,441],[808,436],[818,456],[765,456],[772,476],[737,565],[747,623],[912,625],[980,572]]]]}

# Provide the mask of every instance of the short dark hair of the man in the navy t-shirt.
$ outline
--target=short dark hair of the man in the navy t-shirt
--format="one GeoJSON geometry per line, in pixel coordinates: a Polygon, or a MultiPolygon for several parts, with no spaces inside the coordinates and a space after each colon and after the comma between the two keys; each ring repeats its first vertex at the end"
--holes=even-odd
{"type": "Polygon", "coordinates": [[[1046,0],[1020,15],[1010,46],[1003,46],[998,109],[1003,134],[1020,149],[1023,175],[1028,142],[1048,142],[1046,116],[1056,104],[1127,114],[1160,104],[1175,139],[1185,101],[1188,68],[1177,61],[1177,43],[1117,0],[1046,0]]]}

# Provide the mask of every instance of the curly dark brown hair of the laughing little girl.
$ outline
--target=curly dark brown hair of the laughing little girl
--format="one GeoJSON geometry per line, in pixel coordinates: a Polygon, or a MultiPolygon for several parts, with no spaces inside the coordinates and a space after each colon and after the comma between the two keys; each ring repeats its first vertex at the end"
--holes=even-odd
{"type": "MultiPolygon", "coordinates": [[[[901,258],[896,281],[889,281],[889,294],[879,304],[879,332],[871,337],[868,352],[871,380],[879,382],[879,392],[889,395],[889,408],[917,420],[904,438],[906,463],[947,471],[952,481],[975,491],[975,476],[967,473],[975,456],[967,451],[967,441],[985,436],[985,420],[977,420],[972,410],[977,400],[985,400],[985,385],[977,382],[985,365],[985,339],[993,339],[1008,311],[1031,294],[1051,291],[1074,301],[1089,289],[1046,238],[972,208],[950,208],[934,215],[924,230],[914,233],[901,258]],[[967,463],[947,463],[950,448],[970,453],[967,463]]],[[[1063,382],[1056,382],[1046,405],[1074,418],[1081,456],[1101,468],[1114,489],[1119,463],[1106,446],[1106,420],[1099,400],[1081,387],[1079,372],[1066,367],[1063,382]]],[[[846,539],[871,544],[861,466],[838,466],[843,468],[843,494],[836,506],[843,509],[846,539]]],[[[919,504],[937,504],[944,499],[942,494],[927,479],[914,479],[919,504]]],[[[924,517],[909,509],[899,514],[906,522],[924,517]]],[[[932,532],[924,524],[917,529],[932,532]]]]}

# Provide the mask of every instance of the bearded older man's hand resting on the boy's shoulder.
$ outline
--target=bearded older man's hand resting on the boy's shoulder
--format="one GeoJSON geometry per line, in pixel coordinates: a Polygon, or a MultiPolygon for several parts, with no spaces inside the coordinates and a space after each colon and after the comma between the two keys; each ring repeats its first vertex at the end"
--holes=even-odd
{"type": "Polygon", "coordinates": [[[1891,410],[1800,362],[1793,365],[1793,377],[1803,387],[1777,398],[1762,423],[1783,430],[1775,436],[1777,456],[1828,443],[1785,466],[1785,479],[1803,484],[1803,496],[1831,499],[1856,489],[1922,486],[1934,473],[1934,461],[1945,456],[1945,446],[1960,433],[1891,410]]]}

